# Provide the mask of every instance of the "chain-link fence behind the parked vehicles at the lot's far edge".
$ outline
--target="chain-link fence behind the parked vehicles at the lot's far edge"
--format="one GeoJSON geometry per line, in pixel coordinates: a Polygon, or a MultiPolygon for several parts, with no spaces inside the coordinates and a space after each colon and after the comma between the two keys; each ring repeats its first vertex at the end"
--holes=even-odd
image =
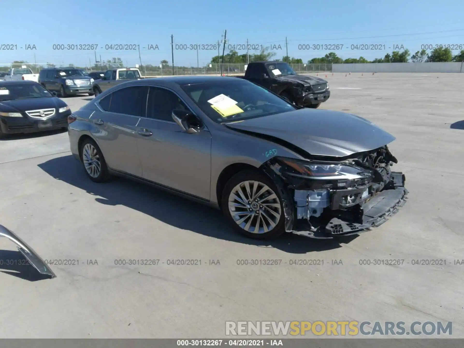
{"type": "MultiPolygon", "coordinates": [[[[316,73],[316,72],[330,72],[332,71],[332,64],[289,64],[292,69],[297,73],[316,73]]],[[[11,68],[21,68],[26,66],[32,70],[34,74],[38,74],[40,70],[47,67],[69,67],[70,65],[52,64],[52,63],[0,63],[0,71],[7,71],[11,68]]],[[[97,66],[78,66],[71,65],[76,69],[84,71],[106,71],[113,68],[124,68],[120,65],[97,65],[97,66]]],[[[224,63],[224,64],[206,64],[203,67],[187,67],[187,66],[174,66],[161,64],[160,65],[142,65],[139,66],[142,76],[173,76],[173,75],[220,75],[221,71],[226,76],[243,75],[245,74],[246,64],[243,63],[224,63]],[[222,67],[221,67],[222,65],[222,67]],[[222,69],[221,69],[222,68],[222,69]]]]}

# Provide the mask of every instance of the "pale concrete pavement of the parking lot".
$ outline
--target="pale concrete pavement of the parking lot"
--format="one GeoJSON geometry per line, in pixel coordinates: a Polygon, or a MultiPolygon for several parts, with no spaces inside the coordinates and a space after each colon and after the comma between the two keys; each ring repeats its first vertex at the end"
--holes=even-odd
{"type": "MultiPolygon", "coordinates": [[[[78,264],[52,265],[57,278],[40,279],[7,265],[19,253],[0,239],[0,337],[219,338],[238,320],[452,321],[453,337],[464,337],[464,264],[456,264],[464,259],[464,74],[327,80],[332,95],[321,108],[397,137],[393,168],[410,191],[387,223],[338,241],[253,241],[206,206],[128,180],[93,183],[66,132],[1,141],[0,224],[42,258],[78,264]],[[201,265],[171,264],[187,259],[201,265]]],[[[77,110],[90,98],[64,100],[77,110]]]]}

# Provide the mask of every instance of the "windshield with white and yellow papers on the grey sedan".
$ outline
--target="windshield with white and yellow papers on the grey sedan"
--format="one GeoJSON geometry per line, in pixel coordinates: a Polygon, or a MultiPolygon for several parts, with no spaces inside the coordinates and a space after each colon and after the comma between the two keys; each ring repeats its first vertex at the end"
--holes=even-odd
{"type": "Polygon", "coordinates": [[[231,122],[296,110],[270,91],[246,80],[180,86],[214,122],[231,122]]]}

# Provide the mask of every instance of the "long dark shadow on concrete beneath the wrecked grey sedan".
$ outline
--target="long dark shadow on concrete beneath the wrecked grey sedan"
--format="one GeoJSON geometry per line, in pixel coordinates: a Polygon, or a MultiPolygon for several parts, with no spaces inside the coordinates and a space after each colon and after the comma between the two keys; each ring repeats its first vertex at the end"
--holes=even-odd
{"type": "Polygon", "coordinates": [[[101,204],[127,206],[171,226],[208,237],[261,247],[274,247],[294,254],[339,248],[340,243],[349,243],[357,237],[353,235],[338,240],[312,239],[288,233],[264,241],[245,238],[227,225],[226,219],[217,209],[122,178],[114,178],[105,184],[94,183],[85,174],[81,163],[72,155],[53,158],[38,166],[57,180],[85,190],[91,195],[102,197],[95,198],[101,204]]]}

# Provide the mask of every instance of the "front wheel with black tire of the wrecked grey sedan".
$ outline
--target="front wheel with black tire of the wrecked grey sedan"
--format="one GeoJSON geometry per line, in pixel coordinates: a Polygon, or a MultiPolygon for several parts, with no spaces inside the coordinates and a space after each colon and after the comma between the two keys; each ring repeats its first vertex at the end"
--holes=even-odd
{"type": "Polygon", "coordinates": [[[226,183],[221,209],[245,237],[269,239],[285,232],[282,198],[271,178],[258,170],[241,171],[226,183]]]}

